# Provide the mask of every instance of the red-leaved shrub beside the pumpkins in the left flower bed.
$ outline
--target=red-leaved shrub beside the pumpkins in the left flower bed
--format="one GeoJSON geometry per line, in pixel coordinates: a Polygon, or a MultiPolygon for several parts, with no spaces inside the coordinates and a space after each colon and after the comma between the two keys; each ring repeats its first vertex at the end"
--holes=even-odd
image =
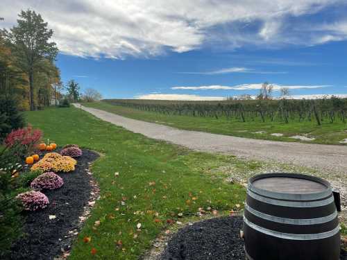
{"type": "Polygon", "coordinates": [[[20,128],[10,132],[6,137],[4,144],[9,147],[19,144],[20,146],[17,147],[17,155],[19,157],[25,157],[29,153],[33,153],[37,148],[41,137],[41,130],[33,129],[31,125],[29,125],[26,128],[20,128]]]}

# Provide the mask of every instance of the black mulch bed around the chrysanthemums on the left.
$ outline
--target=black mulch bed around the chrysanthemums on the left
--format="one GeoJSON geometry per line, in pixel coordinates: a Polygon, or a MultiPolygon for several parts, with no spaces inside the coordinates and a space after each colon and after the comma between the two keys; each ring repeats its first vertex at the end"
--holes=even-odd
{"type": "Polygon", "coordinates": [[[69,231],[77,229],[79,216],[90,198],[92,178],[87,174],[88,162],[99,155],[83,149],[81,158],[76,158],[76,169],[69,173],[58,173],[64,185],[53,191],[43,191],[49,205],[40,211],[26,213],[24,237],[14,243],[9,259],[53,259],[68,250],[72,238],[69,231]],[[49,219],[55,215],[55,219],[49,219]]]}

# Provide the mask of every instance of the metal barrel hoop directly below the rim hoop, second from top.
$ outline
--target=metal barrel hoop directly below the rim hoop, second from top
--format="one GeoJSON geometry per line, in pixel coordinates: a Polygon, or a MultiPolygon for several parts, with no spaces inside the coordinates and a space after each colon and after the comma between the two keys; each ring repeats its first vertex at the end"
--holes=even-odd
{"type": "Polygon", "coordinates": [[[254,193],[253,191],[249,189],[247,190],[247,194],[251,196],[251,198],[254,198],[255,200],[259,200],[264,203],[268,203],[268,204],[276,205],[276,206],[282,206],[282,207],[322,207],[334,202],[334,198],[332,196],[330,196],[326,200],[299,202],[299,201],[273,200],[271,198],[266,198],[266,197],[257,195],[256,193],[254,193]]]}

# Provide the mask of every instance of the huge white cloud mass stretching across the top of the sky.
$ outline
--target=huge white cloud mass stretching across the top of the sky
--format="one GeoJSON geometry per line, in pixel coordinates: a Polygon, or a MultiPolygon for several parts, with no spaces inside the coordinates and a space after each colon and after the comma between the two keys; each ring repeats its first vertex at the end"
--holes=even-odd
{"type": "Polygon", "coordinates": [[[1,24],[12,26],[21,9],[32,8],[49,22],[64,53],[95,58],[148,57],[205,45],[269,47],[346,40],[343,24],[323,28],[321,21],[316,21],[305,26],[310,24],[306,15],[332,5],[344,8],[346,0],[2,0],[5,21],[1,24]]]}

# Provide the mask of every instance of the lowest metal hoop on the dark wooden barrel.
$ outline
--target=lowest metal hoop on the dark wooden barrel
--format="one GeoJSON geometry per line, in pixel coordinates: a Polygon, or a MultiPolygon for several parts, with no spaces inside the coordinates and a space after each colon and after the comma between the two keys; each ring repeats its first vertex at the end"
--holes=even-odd
{"type": "Polygon", "coordinates": [[[260,233],[269,235],[269,236],[275,236],[279,239],[289,239],[289,240],[317,240],[317,239],[327,239],[330,236],[334,236],[337,234],[340,230],[339,225],[335,227],[335,229],[332,229],[328,232],[323,233],[317,233],[317,234],[289,234],[289,233],[282,233],[277,232],[271,229],[266,229],[264,227],[260,227],[258,225],[255,225],[254,223],[251,223],[245,216],[244,216],[244,223],[248,225],[248,227],[251,227],[255,230],[257,230],[260,233]]]}

